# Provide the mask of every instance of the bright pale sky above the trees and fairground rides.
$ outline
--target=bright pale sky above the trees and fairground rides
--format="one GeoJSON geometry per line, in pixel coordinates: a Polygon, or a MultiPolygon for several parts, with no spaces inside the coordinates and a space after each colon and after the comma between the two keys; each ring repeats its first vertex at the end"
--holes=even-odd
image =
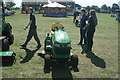
{"type": "MultiPolygon", "coordinates": [[[[113,3],[117,3],[120,0],[74,0],[75,3],[80,4],[83,7],[86,6],[91,6],[91,5],[97,5],[99,7],[101,7],[103,4],[106,4],[107,6],[112,6],[113,3]]],[[[22,0],[14,0],[14,2],[16,3],[16,6],[20,6],[22,0]]]]}

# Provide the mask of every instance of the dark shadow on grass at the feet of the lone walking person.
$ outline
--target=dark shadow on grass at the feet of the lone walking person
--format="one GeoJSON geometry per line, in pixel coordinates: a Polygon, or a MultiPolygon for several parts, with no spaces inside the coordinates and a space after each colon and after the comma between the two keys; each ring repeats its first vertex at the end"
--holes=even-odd
{"type": "Polygon", "coordinates": [[[23,60],[20,63],[29,62],[32,59],[32,57],[34,56],[34,54],[39,50],[39,48],[37,48],[35,50],[29,50],[27,48],[21,48],[21,49],[25,50],[26,56],[24,58],[21,57],[23,60]]]}

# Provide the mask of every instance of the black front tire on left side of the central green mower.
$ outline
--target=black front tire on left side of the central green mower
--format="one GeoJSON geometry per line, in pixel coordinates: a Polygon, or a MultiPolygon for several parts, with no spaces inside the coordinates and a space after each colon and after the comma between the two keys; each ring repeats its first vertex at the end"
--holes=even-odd
{"type": "Polygon", "coordinates": [[[51,66],[50,55],[45,55],[45,65],[44,65],[44,72],[49,73],[51,66]]]}

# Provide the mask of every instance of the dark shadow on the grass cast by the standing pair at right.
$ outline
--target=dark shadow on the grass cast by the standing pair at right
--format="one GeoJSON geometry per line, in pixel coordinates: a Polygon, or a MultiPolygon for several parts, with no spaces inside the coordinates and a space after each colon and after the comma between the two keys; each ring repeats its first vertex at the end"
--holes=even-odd
{"type": "Polygon", "coordinates": [[[96,56],[95,53],[88,53],[87,57],[91,59],[91,62],[96,66],[96,67],[100,67],[100,68],[106,68],[106,63],[105,61],[96,56]]]}

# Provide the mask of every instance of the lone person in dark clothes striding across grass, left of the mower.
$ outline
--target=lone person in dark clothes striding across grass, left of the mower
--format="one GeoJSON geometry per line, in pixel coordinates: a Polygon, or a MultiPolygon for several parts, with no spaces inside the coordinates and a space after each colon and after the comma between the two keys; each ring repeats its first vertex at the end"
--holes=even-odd
{"type": "Polygon", "coordinates": [[[27,27],[25,27],[24,30],[26,30],[28,27],[30,26],[30,29],[29,29],[29,33],[28,33],[28,36],[27,36],[27,39],[25,41],[25,43],[23,45],[21,45],[22,47],[26,47],[28,42],[32,39],[32,37],[34,36],[38,46],[37,48],[40,48],[41,47],[41,44],[40,44],[40,40],[37,36],[37,31],[36,31],[36,19],[35,19],[35,15],[34,15],[34,12],[33,12],[33,9],[30,9],[30,22],[29,24],[27,25],[27,27]]]}

